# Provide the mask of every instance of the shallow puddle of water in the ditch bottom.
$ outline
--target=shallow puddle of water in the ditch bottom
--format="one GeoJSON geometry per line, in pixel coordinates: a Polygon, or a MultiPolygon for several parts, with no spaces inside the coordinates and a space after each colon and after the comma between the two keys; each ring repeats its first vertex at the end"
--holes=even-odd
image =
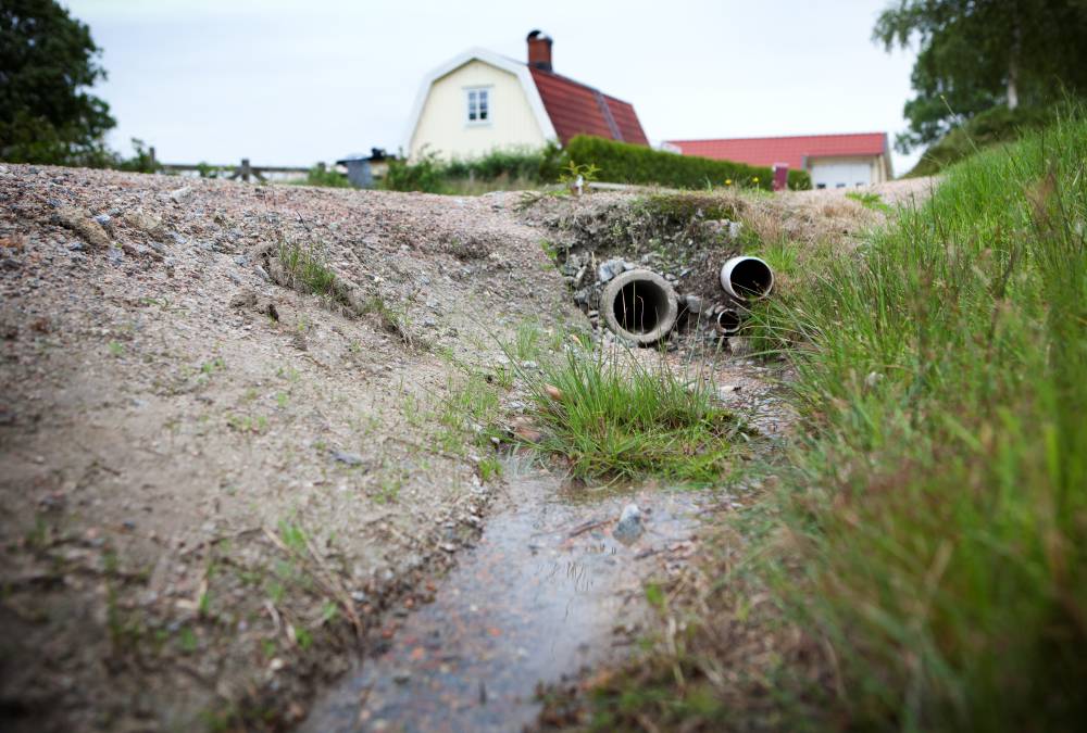
{"type": "Polygon", "coordinates": [[[388,649],[323,699],[301,731],[516,731],[535,720],[537,683],[624,654],[646,612],[642,581],[689,552],[704,493],[590,491],[507,467],[504,507],[435,601],[388,649]],[[635,503],[645,531],[612,535],[635,503]]]}

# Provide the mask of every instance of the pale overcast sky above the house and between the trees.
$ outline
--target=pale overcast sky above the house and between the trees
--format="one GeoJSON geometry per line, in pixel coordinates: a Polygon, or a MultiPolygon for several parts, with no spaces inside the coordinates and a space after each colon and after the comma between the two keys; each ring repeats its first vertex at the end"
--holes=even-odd
{"type": "MultiPolygon", "coordinates": [[[[62,0],[64,1],[64,0],[62,0]]],[[[889,0],[66,0],[104,50],[111,143],[170,163],[310,165],[396,150],[420,79],[474,46],[634,103],[666,139],[901,130],[914,54],[871,40],[889,0]]],[[[916,154],[895,154],[895,173],[916,154]]]]}

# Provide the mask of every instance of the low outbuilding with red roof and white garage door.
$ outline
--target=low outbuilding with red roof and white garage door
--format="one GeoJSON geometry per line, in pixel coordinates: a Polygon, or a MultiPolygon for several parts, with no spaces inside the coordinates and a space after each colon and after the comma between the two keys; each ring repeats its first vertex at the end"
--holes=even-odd
{"type": "Polygon", "coordinates": [[[664,148],[683,155],[808,170],[815,188],[851,188],[892,177],[886,132],[669,140],[664,148]]]}

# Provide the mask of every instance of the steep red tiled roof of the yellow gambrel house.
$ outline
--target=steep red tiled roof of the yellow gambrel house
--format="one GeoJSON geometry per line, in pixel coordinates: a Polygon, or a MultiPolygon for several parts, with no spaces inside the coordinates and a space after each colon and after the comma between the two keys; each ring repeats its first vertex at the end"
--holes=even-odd
{"type": "Polygon", "coordinates": [[[634,105],[542,68],[529,67],[544,109],[563,144],[575,135],[595,135],[648,146],[634,105]]]}

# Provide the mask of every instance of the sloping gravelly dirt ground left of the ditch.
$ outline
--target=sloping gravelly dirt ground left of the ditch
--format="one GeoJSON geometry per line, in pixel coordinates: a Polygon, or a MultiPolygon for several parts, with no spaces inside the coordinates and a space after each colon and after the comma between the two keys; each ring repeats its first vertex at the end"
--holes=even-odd
{"type": "MultiPolygon", "coordinates": [[[[789,195],[798,227],[873,220],[789,195]]],[[[628,200],[0,166],[5,730],[301,720],[478,535],[502,483],[445,406],[482,377],[524,409],[500,343],[588,326],[541,242],[628,200]]],[[[722,399],[774,433],[765,370],[722,399]]]]}

